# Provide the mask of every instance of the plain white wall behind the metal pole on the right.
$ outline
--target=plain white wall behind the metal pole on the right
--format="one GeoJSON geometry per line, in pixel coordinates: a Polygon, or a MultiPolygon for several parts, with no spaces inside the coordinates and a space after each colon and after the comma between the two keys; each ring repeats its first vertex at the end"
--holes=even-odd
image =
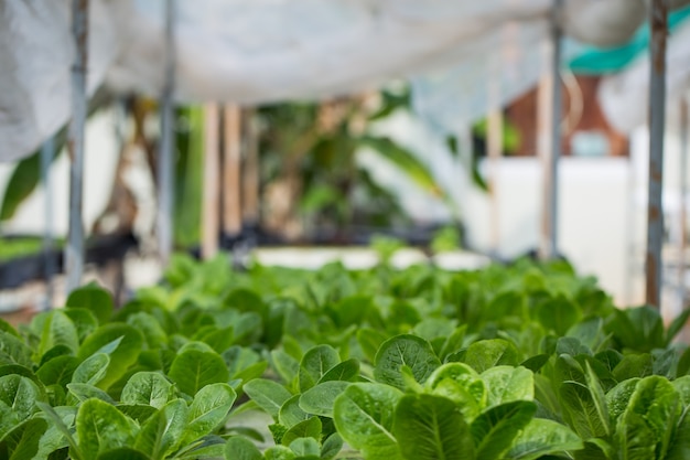
{"type": "MultiPolygon", "coordinates": [[[[594,275],[627,303],[628,178],[624,158],[563,158],[559,170],[559,249],[584,275],[594,275]]],[[[542,169],[538,158],[504,158],[496,168],[497,255],[515,257],[539,246],[542,169]]],[[[470,244],[493,252],[489,195],[470,190],[470,244]]]]}

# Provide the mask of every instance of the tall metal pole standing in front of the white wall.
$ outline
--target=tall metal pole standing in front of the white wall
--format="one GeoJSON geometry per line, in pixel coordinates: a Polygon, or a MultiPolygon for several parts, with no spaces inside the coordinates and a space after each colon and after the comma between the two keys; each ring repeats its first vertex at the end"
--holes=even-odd
{"type": "Polygon", "coordinates": [[[558,163],[561,157],[561,114],[562,114],[562,88],[560,83],[560,64],[562,53],[561,17],[563,0],[553,0],[551,9],[551,77],[550,97],[551,110],[549,125],[549,147],[545,149],[545,178],[543,178],[543,220],[541,258],[545,260],[558,256],[558,163]]]}

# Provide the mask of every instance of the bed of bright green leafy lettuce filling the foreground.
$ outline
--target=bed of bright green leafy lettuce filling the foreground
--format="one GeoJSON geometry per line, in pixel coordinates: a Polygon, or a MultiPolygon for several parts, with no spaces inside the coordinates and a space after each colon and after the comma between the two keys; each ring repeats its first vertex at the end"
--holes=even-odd
{"type": "Polygon", "coordinates": [[[0,322],[0,458],[690,458],[687,315],[618,310],[563,261],[177,257],[121,309],[66,303],[0,322]]]}

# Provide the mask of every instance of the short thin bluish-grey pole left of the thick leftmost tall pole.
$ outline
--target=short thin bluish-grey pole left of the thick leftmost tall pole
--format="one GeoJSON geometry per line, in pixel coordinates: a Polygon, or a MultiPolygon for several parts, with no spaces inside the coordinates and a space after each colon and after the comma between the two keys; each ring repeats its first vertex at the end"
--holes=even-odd
{"type": "Polygon", "coordinates": [[[53,216],[53,181],[51,179],[51,162],[55,156],[55,140],[51,137],[41,147],[41,182],[43,183],[43,257],[45,276],[45,306],[47,310],[53,304],[53,276],[57,271],[53,249],[55,248],[54,216],[53,216]]]}

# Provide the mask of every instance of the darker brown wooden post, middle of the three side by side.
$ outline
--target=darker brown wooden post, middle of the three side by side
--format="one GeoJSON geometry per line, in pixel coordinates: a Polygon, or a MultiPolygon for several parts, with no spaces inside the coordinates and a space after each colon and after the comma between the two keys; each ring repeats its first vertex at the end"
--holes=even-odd
{"type": "Polygon", "coordinates": [[[241,109],[228,105],[224,111],[223,136],[223,233],[237,236],[242,229],[241,211],[241,109]]]}

